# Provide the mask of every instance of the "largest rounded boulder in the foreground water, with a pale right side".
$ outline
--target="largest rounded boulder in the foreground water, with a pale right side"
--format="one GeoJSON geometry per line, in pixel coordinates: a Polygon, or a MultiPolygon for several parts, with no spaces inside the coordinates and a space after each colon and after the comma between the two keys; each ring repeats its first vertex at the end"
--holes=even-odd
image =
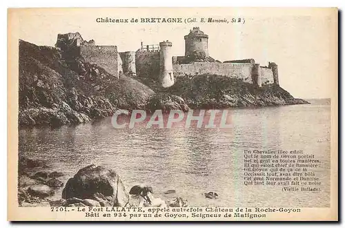
{"type": "Polygon", "coordinates": [[[70,178],[63,189],[62,198],[92,199],[101,195],[110,201],[114,207],[128,205],[128,193],[119,175],[104,167],[91,164],[80,169],[70,178]]]}

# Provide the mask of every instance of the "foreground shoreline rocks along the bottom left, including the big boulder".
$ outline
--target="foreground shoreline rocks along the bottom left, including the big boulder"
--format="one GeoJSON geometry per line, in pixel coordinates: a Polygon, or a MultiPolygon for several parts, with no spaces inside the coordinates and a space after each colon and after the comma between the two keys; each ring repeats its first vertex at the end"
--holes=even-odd
{"type": "MultiPolygon", "coordinates": [[[[59,180],[63,173],[45,171],[47,168],[46,162],[41,160],[19,158],[20,207],[141,207],[142,198],[139,193],[130,194],[119,175],[113,170],[91,164],[80,169],[63,183],[59,180]],[[59,200],[52,200],[52,196],[55,196],[57,190],[61,188],[63,191],[59,200]]],[[[205,196],[217,198],[212,193],[206,193],[205,196]]],[[[171,189],[164,192],[165,200],[152,195],[150,198],[152,205],[156,203],[155,207],[188,206],[188,201],[177,196],[176,191],[171,189]]]]}

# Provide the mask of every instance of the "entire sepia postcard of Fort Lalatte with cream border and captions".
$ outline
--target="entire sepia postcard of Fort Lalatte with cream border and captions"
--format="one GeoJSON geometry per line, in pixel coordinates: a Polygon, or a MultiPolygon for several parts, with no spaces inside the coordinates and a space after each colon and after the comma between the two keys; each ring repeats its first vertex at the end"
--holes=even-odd
{"type": "Polygon", "coordinates": [[[8,9],[8,220],[338,220],[337,8],[8,9]]]}

